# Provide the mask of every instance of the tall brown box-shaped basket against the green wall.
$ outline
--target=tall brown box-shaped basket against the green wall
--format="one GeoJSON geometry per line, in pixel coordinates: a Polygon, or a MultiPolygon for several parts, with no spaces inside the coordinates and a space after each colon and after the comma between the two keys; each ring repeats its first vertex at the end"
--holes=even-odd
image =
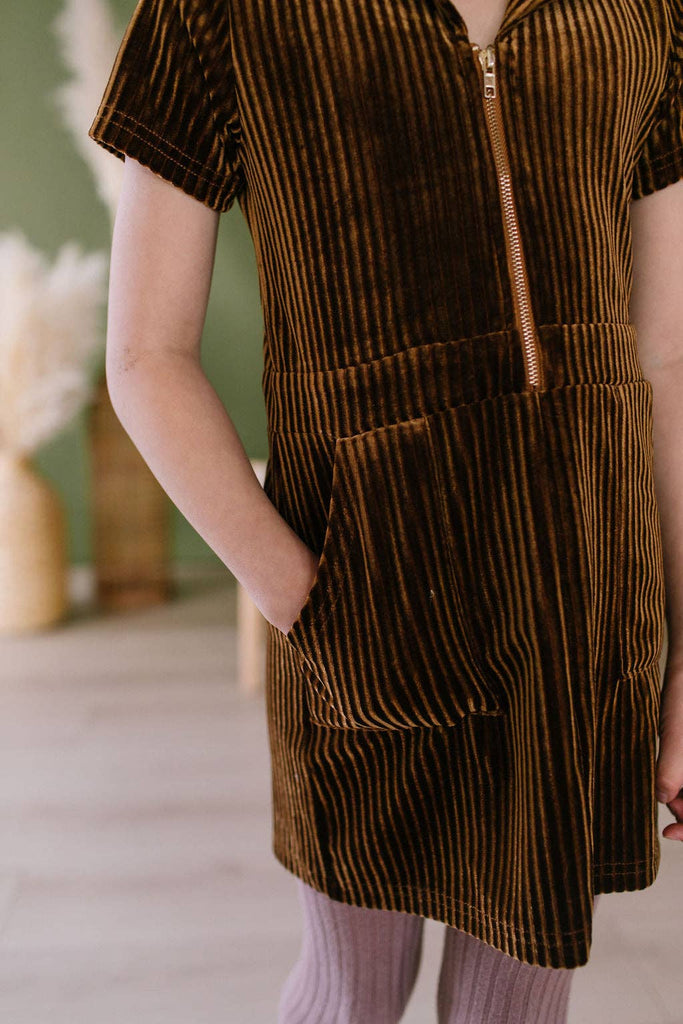
{"type": "Polygon", "coordinates": [[[104,374],[88,427],[97,603],[121,609],[159,604],[173,593],[170,501],[121,425],[104,374]]]}

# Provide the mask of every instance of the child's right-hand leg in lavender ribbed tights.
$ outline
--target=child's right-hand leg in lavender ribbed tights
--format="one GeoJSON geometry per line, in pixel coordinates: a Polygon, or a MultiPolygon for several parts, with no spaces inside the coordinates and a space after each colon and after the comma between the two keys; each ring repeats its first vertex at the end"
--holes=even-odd
{"type": "Polygon", "coordinates": [[[446,926],[438,1024],[564,1024],[572,980],[572,970],[524,964],[446,926]]]}

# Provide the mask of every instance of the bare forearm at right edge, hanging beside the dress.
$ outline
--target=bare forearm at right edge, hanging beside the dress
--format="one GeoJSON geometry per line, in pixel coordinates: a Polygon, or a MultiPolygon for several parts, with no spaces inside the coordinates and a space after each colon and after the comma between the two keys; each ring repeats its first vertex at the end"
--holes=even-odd
{"type": "Polygon", "coordinates": [[[683,670],[683,359],[647,368],[667,592],[668,671],[683,670]]]}

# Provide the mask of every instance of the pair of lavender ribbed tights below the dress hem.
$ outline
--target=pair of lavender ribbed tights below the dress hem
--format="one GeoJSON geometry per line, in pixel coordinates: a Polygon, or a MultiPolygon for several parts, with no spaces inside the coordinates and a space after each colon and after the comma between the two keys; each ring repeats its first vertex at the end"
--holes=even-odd
{"type": "MultiPolygon", "coordinates": [[[[425,919],[340,903],[296,883],[303,940],[278,1024],[397,1024],[417,980],[425,919]]],[[[524,964],[445,926],[436,1019],[564,1024],[572,978],[571,970],[524,964]]]]}

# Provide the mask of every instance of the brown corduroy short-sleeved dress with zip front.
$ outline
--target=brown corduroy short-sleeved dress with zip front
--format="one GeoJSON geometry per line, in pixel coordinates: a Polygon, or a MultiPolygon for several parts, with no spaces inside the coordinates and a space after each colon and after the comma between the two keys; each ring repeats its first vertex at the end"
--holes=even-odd
{"type": "Polygon", "coordinates": [[[274,856],[585,964],[660,855],[630,206],[683,177],[681,0],[509,0],[482,50],[451,0],[139,0],[89,135],[253,237],[319,557],[267,630],[274,856]]]}

